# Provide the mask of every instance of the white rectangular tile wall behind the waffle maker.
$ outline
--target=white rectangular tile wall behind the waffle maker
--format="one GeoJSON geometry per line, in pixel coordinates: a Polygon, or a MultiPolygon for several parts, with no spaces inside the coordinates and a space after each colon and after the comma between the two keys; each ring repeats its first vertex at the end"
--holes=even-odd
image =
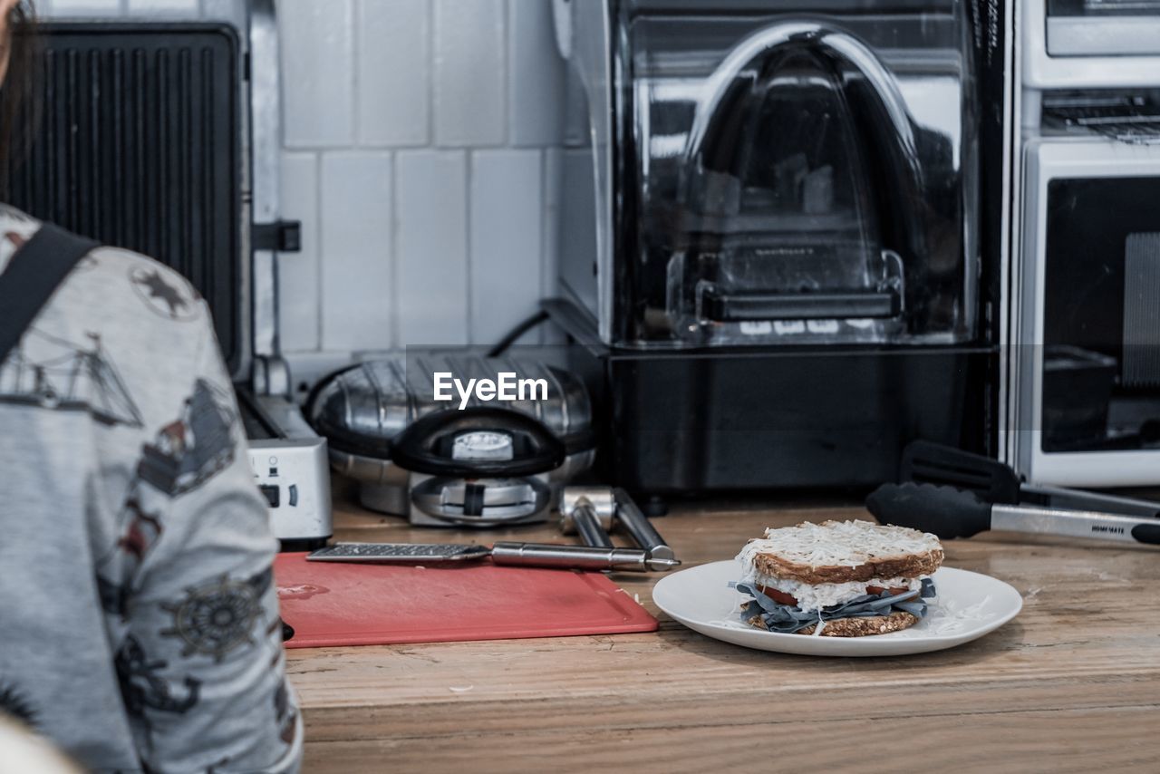
{"type": "MultiPolygon", "coordinates": [[[[172,17],[205,2],[37,6],[172,17]]],[[[329,362],[499,339],[554,291],[567,88],[551,0],[277,7],[283,210],[303,222],[281,266],[283,347],[329,362]]]]}

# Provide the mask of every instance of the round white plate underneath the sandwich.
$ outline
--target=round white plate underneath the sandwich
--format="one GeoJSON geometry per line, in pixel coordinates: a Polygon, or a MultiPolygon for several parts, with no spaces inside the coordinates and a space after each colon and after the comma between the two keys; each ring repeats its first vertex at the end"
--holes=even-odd
{"type": "Polygon", "coordinates": [[[703,635],[734,645],[803,656],[907,656],[954,648],[1014,619],[1023,598],[1009,584],[967,570],[942,567],[933,576],[937,596],[909,629],[869,637],[813,637],[754,629],[738,610],[752,599],[728,587],[741,577],[735,560],[713,562],[666,576],[653,588],[657,607],[703,635]]]}

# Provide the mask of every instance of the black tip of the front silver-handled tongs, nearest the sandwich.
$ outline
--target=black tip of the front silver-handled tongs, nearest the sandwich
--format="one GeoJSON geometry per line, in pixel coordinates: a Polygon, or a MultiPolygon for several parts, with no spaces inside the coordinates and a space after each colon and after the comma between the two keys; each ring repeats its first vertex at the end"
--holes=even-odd
{"type": "Polygon", "coordinates": [[[951,486],[883,484],[867,498],[867,509],[884,525],[921,529],[943,540],[991,529],[991,504],[951,486]]]}

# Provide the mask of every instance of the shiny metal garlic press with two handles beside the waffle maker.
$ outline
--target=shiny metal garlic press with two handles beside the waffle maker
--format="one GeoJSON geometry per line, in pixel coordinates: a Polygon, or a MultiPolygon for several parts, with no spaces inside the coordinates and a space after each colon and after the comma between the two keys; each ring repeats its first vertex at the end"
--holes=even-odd
{"type": "Polygon", "coordinates": [[[560,528],[566,535],[579,534],[588,545],[611,545],[609,531],[623,528],[650,557],[676,558],[673,549],[623,489],[566,487],[560,497],[560,528]]]}

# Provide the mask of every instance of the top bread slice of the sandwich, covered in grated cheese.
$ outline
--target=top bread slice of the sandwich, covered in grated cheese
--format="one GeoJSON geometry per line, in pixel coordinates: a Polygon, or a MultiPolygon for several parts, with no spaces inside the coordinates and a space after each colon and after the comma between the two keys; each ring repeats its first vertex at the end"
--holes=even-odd
{"type": "Polygon", "coordinates": [[[942,544],[929,533],[860,520],[767,529],[764,538],[749,541],[738,559],[751,578],[815,585],[929,576],[943,556],[942,544]]]}

